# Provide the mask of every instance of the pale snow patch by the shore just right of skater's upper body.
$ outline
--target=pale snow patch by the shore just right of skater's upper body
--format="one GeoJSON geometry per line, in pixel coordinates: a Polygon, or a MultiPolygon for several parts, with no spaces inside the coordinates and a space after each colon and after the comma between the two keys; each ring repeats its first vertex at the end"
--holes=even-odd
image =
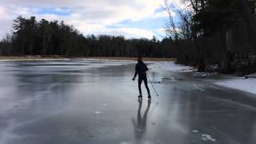
{"type": "Polygon", "coordinates": [[[175,64],[174,62],[154,62],[148,66],[151,70],[170,70],[176,72],[189,72],[193,71],[194,68],[191,66],[183,66],[175,64]]]}

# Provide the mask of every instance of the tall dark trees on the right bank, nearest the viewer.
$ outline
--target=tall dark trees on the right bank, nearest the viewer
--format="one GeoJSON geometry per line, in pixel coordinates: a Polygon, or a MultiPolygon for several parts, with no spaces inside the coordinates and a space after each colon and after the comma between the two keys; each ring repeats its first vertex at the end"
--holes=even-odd
{"type": "Polygon", "coordinates": [[[186,9],[169,5],[167,0],[165,7],[170,14],[167,31],[178,48],[178,62],[198,66],[198,71],[218,65],[222,73],[255,72],[256,0],[186,1],[186,9]]]}

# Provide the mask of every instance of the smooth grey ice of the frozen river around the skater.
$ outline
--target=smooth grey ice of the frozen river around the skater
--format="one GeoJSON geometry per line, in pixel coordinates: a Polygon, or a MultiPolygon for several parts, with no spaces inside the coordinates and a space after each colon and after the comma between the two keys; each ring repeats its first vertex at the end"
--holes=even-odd
{"type": "Polygon", "coordinates": [[[149,85],[152,101],[144,95],[138,102],[134,65],[0,62],[0,144],[256,142],[253,94],[215,86],[172,62],[150,62],[159,97],[149,85]]]}

